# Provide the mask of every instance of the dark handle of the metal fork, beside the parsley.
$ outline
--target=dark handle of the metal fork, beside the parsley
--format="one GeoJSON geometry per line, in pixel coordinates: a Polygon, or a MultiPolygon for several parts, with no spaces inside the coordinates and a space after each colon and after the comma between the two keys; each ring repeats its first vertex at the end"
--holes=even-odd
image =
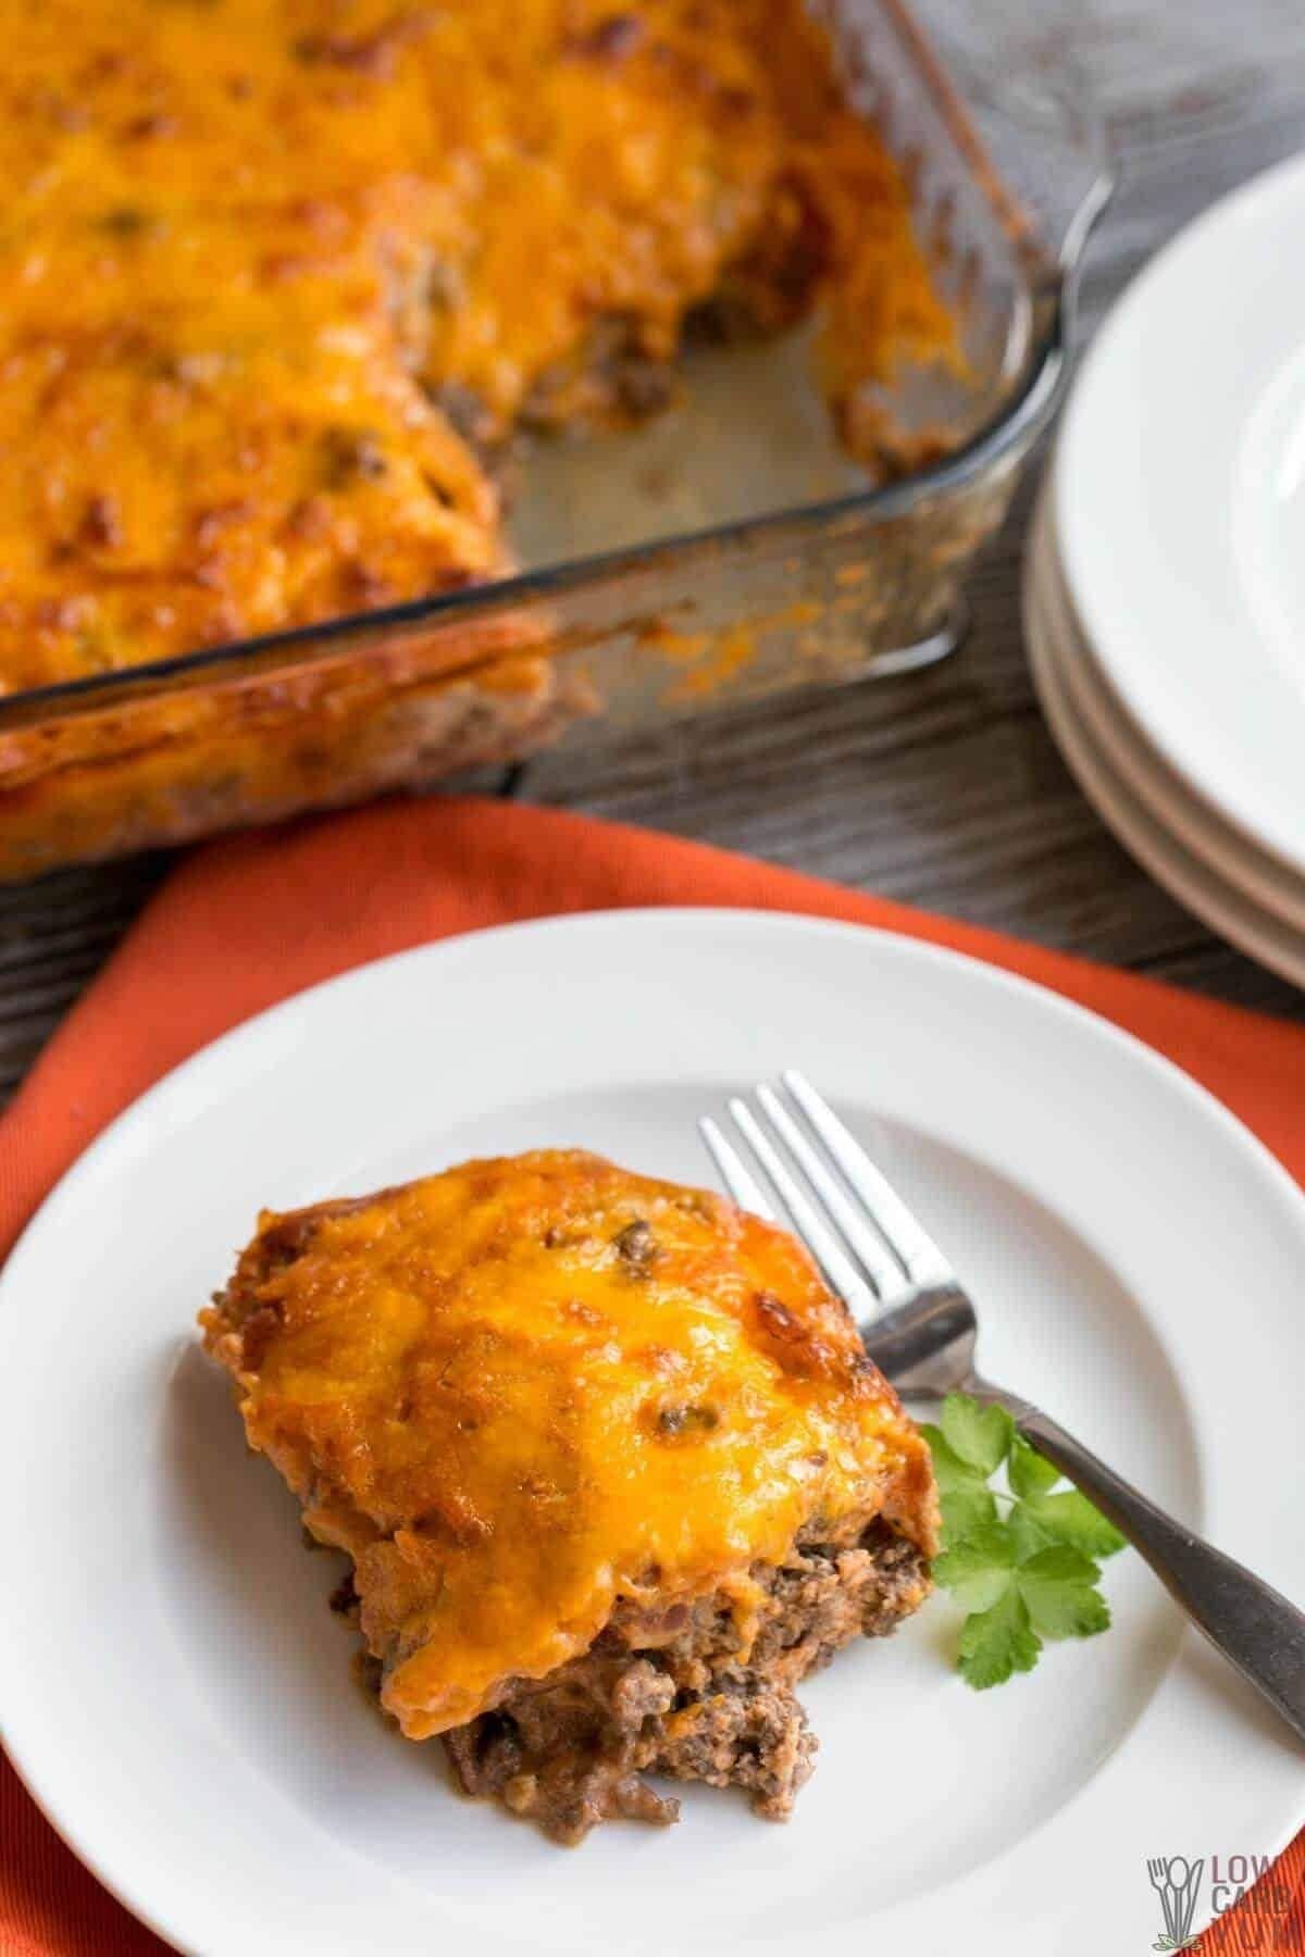
{"type": "Polygon", "coordinates": [[[1184,1528],[1047,1413],[1012,1401],[1019,1433],[1123,1530],[1215,1650],[1305,1740],[1305,1613],[1184,1528]]]}

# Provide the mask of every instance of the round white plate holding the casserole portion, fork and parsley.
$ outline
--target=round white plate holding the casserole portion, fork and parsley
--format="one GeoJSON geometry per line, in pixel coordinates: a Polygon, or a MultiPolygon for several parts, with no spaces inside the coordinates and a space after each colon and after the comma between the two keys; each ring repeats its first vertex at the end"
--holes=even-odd
{"type": "MultiPolygon", "coordinates": [[[[522,924],[364,967],[135,1104],[0,1280],[0,1714],[76,1851],[188,1951],[1148,1949],[1147,1859],[1272,1855],[1299,1748],[1131,1552],[1113,1628],[972,1693],[933,1599],[810,1681],[788,1826],[689,1789],[563,1851],[350,1681],[331,1556],[194,1313],[260,1204],[579,1143],[708,1182],[695,1117],[798,1065],[970,1278],[994,1378],[1305,1595],[1305,1200],[1150,1051],[988,967],[751,912],[522,924]]],[[[1227,1902],[1211,1879],[1197,1926],[1227,1902]]]]}

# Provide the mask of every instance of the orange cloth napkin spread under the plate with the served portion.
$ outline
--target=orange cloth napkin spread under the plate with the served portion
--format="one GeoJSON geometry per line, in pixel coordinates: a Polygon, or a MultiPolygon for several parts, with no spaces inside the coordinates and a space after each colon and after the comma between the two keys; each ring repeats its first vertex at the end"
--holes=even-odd
{"type": "MultiPolygon", "coordinates": [[[[180,865],[0,1121],[0,1252],[127,1102],[264,1006],[434,937],[513,918],[642,904],[843,918],[1021,973],[1168,1055],[1305,1182],[1301,1025],[700,843],[513,802],[430,800],[233,838],[180,865]]],[[[1248,1845],[1229,1843],[1229,1851],[1248,1845]]],[[[135,1957],[162,1949],[63,1847],[0,1757],[0,1951],[135,1957]]],[[[1246,1904],[1201,1939],[1201,1951],[1305,1957],[1305,1834],[1246,1904]]]]}

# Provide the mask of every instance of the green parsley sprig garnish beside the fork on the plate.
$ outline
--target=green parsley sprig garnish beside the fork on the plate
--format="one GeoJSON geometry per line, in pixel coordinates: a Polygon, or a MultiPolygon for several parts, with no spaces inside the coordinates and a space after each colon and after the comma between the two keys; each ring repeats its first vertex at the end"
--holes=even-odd
{"type": "Polygon", "coordinates": [[[1109,1624],[1098,1560],[1119,1530],[1015,1433],[1006,1407],[949,1393],[941,1425],[920,1429],[943,1503],[933,1575],[967,1613],[957,1671],[976,1691],[1033,1671],[1045,1638],[1092,1638],[1109,1624]],[[990,1487],[1006,1464],[1006,1487],[990,1487]]]}

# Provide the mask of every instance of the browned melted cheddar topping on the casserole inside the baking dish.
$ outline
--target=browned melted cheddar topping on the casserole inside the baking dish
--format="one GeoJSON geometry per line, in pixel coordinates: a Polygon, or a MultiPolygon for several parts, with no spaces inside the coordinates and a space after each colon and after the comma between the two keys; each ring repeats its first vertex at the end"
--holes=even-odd
{"type": "Polygon", "coordinates": [[[802,0],[0,0],[0,685],[505,569],[706,299],[949,327],[802,0]]]}

